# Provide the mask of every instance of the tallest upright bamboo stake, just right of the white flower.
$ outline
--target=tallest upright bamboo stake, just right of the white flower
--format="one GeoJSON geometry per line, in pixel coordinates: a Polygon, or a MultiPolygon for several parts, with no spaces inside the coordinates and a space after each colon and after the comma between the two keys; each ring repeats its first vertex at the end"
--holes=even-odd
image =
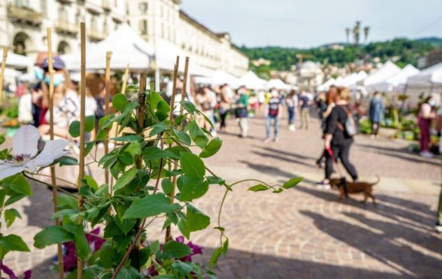
{"type": "MultiPolygon", "coordinates": [[[[82,179],[84,179],[84,106],[86,100],[86,31],[84,22],[80,23],[80,51],[81,51],[81,81],[80,81],[80,160],[79,160],[79,170],[78,170],[78,193],[80,194],[80,189],[82,188],[82,179]]],[[[82,212],[84,209],[84,197],[78,195],[78,211],[82,212]]],[[[78,217],[78,223],[82,224],[83,220],[78,217]]],[[[80,257],[77,258],[77,279],[83,278],[83,261],[80,257]]]]}

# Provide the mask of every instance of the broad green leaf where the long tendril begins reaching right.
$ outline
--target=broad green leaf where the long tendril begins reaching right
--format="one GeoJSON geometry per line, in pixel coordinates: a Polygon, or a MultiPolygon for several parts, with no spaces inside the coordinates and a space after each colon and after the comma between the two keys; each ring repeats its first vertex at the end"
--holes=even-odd
{"type": "Polygon", "coordinates": [[[209,190],[209,182],[194,176],[179,176],[177,179],[177,187],[179,189],[179,200],[182,202],[190,202],[198,199],[209,190]]]}

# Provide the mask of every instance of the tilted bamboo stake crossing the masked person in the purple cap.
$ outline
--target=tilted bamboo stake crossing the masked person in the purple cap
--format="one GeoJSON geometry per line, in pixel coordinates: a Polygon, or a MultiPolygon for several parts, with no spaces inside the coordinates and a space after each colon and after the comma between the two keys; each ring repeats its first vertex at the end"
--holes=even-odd
{"type": "MultiPolygon", "coordinates": [[[[54,140],[54,66],[52,65],[52,31],[47,29],[47,62],[49,66],[49,135],[50,140],[54,140]]],[[[51,171],[51,183],[53,186],[57,186],[57,179],[55,175],[55,166],[50,167],[51,171]]],[[[57,213],[57,206],[59,203],[59,196],[57,188],[52,187],[52,200],[54,204],[54,213],[57,213]]],[[[60,219],[55,218],[55,225],[60,225],[60,219]]],[[[63,250],[61,249],[61,243],[57,243],[57,258],[59,262],[59,279],[64,278],[64,259],[63,250]]]]}

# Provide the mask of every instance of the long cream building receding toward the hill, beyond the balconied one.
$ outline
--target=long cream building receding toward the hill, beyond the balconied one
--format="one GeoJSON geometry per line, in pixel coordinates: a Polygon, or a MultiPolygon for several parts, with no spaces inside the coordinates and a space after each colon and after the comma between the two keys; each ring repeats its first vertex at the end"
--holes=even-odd
{"type": "Polygon", "coordinates": [[[231,43],[228,33],[214,33],[179,9],[178,0],[128,0],[128,23],[155,45],[168,40],[199,66],[240,77],[249,59],[231,43]]]}

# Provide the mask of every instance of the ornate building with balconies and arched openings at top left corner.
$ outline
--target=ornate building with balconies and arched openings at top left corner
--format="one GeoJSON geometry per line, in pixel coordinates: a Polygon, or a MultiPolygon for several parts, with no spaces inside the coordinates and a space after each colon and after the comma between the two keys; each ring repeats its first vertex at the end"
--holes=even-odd
{"type": "Polygon", "coordinates": [[[35,58],[47,51],[51,27],[52,51],[65,54],[80,47],[80,22],[96,42],[124,22],[125,11],[125,0],[0,0],[0,42],[35,58]]]}

